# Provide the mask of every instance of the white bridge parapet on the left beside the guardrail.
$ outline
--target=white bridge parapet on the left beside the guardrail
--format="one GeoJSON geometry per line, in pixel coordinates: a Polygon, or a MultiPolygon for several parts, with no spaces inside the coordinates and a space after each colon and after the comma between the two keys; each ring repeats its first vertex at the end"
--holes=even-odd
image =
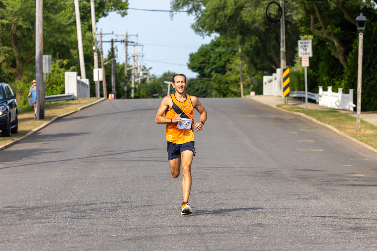
{"type": "Polygon", "coordinates": [[[89,79],[81,79],[76,71],[64,73],[65,94],[73,93],[74,98],[90,97],[89,79]]]}

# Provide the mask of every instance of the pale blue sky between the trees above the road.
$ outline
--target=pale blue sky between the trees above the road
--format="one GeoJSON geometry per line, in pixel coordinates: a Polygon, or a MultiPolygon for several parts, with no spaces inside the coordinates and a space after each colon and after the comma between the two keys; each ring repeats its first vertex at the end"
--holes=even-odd
{"type": "MultiPolygon", "coordinates": [[[[129,8],[138,9],[170,9],[170,0],[129,0],[129,8]]],[[[188,16],[185,12],[180,12],[170,19],[169,12],[152,12],[128,10],[128,15],[121,17],[115,12],[102,18],[97,23],[97,33],[102,29],[103,33],[114,32],[114,35],[106,35],[103,40],[124,39],[116,37],[115,34],[123,35],[138,34],[138,37],[130,37],[129,40],[136,40],[144,47],[136,47],[136,52],[144,53],[144,63],[146,67],[152,67],[151,73],[157,76],[165,71],[175,71],[184,73],[187,77],[195,77],[196,73],[187,68],[189,54],[196,52],[202,44],[211,41],[210,37],[202,38],[196,35],[191,29],[194,22],[193,16],[188,16]],[[151,61],[148,61],[151,60],[151,61]],[[160,62],[153,62],[160,61],[160,62]],[[173,64],[164,64],[168,62],[173,64]],[[183,65],[174,65],[183,64],[183,65]]],[[[109,43],[103,44],[104,52],[110,49],[109,43]]],[[[117,43],[118,62],[124,62],[124,44],[117,43]]],[[[132,53],[132,46],[128,47],[128,53],[132,53]]],[[[130,61],[129,61],[130,63],[130,61]]]]}

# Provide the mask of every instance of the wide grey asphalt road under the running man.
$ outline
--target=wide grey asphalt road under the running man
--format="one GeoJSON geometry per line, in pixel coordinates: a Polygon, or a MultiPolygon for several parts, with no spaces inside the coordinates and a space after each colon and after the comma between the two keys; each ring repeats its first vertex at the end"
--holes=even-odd
{"type": "Polygon", "coordinates": [[[180,216],[160,102],[106,100],[1,151],[0,250],[377,249],[377,155],[247,98],[201,99],[180,216]]]}

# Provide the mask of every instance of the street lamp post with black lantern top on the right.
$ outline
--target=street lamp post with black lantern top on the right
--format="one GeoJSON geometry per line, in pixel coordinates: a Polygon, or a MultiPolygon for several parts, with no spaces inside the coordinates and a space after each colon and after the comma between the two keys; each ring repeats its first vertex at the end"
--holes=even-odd
{"type": "Polygon", "coordinates": [[[361,114],[361,79],[363,70],[363,31],[365,30],[366,17],[360,13],[356,17],[357,30],[359,30],[359,59],[357,60],[357,102],[356,102],[356,129],[360,130],[360,114],[361,114]],[[360,22],[360,23],[359,23],[360,22]],[[360,25],[359,25],[360,24],[360,25]],[[362,26],[362,24],[364,24],[362,26]]]}

